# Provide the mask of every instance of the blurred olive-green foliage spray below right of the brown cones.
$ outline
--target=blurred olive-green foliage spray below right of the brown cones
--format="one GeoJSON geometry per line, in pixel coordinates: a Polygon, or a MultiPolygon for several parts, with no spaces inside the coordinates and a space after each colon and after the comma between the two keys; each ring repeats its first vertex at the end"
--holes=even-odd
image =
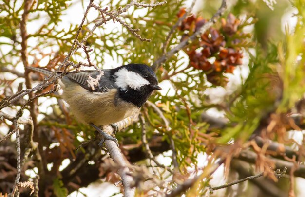
{"type": "Polygon", "coordinates": [[[251,55],[249,76],[237,93],[238,97],[230,107],[230,112],[227,113],[232,127],[223,131],[219,143],[227,143],[232,138],[247,140],[261,118],[276,108],[274,105],[281,92],[273,91],[272,74],[275,72],[269,63],[277,62],[277,48],[270,45],[269,49],[266,55],[259,53],[259,50],[256,56],[251,55]]]}

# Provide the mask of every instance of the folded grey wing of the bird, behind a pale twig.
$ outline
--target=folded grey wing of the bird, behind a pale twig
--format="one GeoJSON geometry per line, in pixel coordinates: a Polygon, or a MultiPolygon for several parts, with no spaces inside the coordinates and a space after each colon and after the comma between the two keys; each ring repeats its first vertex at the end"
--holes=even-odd
{"type": "Polygon", "coordinates": [[[96,70],[85,70],[68,73],[65,77],[68,77],[71,81],[92,92],[105,92],[109,89],[116,88],[114,81],[110,76],[110,70],[105,69],[102,71],[102,75],[96,70]],[[98,78],[99,80],[95,81],[95,79],[98,78]]]}

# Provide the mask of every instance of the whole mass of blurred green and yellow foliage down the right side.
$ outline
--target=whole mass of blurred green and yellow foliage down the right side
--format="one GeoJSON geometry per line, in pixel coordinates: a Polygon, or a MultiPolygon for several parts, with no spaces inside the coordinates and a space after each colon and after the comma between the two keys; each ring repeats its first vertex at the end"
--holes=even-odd
{"type": "Polygon", "coordinates": [[[286,26],[284,46],[279,42],[269,45],[265,53],[257,47],[251,56],[250,73],[227,117],[233,127],[224,130],[219,143],[232,138],[248,137],[257,129],[261,119],[275,110],[287,112],[305,92],[304,2],[296,1],[298,22],[294,33],[286,26]]]}

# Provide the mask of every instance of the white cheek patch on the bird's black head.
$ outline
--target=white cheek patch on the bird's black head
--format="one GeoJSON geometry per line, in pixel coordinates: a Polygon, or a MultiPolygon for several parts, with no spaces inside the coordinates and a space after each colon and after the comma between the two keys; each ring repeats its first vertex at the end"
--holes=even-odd
{"type": "Polygon", "coordinates": [[[136,90],[141,86],[150,84],[150,82],[141,75],[136,72],[128,71],[126,68],[119,70],[115,75],[117,76],[115,85],[123,90],[127,90],[128,87],[136,90]]]}

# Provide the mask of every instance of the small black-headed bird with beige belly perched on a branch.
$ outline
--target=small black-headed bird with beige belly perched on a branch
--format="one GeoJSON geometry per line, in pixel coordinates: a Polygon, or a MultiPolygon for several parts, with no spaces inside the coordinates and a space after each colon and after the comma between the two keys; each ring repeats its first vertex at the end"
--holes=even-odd
{"type": "MultiPolygon", "coordinates": [[[[44,68],[28,67],[49,75],[44,68]]],[[[57,74],[60,74],[58,72],[57,74]]],[[[68,72],[59,80],[62,98],[69,104],[76,120],[93,126],[106,140],[117,139],[98,126],[111,125],[139,112],[153,90],[162,90],[151,67],[127,64],[114,69],[68,72]]],[[[102,146],[104,140],[99,145],[102,146]]]]}

